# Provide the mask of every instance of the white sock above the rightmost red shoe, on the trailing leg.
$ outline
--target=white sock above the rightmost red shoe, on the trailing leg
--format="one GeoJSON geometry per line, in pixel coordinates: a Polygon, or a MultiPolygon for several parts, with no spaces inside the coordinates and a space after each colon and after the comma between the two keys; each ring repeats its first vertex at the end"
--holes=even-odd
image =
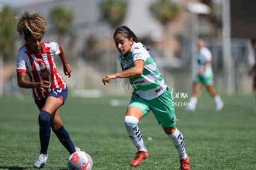
{"type": "Polygon", "coordinates": [[[179,159],[186,159],[187,153],[185,149],[184,138],[181,132],[176,129],[173,134],[168,135],[168,137],[171,138],[171,140],[173,141],[174,147],[176,147],[177,153],[179,154],[179,159]]]}

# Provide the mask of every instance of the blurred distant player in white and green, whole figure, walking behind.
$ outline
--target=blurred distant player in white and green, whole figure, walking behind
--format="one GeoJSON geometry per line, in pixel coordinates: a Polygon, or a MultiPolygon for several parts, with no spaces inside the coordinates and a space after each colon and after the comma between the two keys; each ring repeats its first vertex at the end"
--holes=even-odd
{"type": "Polygon", "coordinates": [[[211,69],[211,52],[205,47],[205,42],[203,40],[197,41],[198,51],[197,51],[197,62],[198,62],[198,72],[194,79],[192,97],[190,98],[190,104],[187,107],[187,111],[194,111],[197,106],[197,98],[199,90],[203,85],[205,85],[208,93],[215,100],[215,111],[220,111],[223,108],[223,101],[221,97],[216,93],[213,88],[213,70],[211,69]]]}

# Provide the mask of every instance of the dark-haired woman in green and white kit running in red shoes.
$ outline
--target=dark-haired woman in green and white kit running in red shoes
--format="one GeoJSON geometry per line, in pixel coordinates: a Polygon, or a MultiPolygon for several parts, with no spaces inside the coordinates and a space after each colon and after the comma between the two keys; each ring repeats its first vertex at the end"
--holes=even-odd
{"type": "Polygon", "coordinates": [[[152,111],[164,132],[177,148],[181,163],[180,169],[190,169],[184,138],[176,127],[173,99],[155,61],[134,32],[126,26],[116,29],[114,43],[119,51],[118,57],[121,61],[122,72],[105,75],[102,81],[106,85],[110,79],[129,78],[134,89],[124,117],[127,133],[138,150],[130,166],[139,166],[143,159],[148,158],[148,151],[138,123],[142,117],[152,111]]]}

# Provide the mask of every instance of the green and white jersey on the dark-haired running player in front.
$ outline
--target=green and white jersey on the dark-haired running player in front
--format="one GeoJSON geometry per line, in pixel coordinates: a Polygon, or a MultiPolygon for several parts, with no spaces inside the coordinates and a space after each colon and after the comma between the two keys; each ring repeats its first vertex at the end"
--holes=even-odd
{"type": "Polygon", "coordinates": [[[134,61],[136,60],[141,59],[145,62],[142,75],[129,78],[134,92],[143,99],[152,100],[166,90],[167,85],[164,83],[163,76],[142,43],[134,42],[130,54],[126,57],[119,54],[118,58],[124,70],[134,67],[134,61]]]}

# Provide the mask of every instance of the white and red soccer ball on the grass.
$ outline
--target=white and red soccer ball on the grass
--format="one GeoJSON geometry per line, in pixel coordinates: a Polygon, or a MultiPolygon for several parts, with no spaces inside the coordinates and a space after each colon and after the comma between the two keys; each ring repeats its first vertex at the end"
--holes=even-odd
{"type": "Polygon", "coordinates": [[[85,151],[76,151],[69,156],[67,160],[67,169],[69,170],[91,170],[93,160],[85,151]]]}

